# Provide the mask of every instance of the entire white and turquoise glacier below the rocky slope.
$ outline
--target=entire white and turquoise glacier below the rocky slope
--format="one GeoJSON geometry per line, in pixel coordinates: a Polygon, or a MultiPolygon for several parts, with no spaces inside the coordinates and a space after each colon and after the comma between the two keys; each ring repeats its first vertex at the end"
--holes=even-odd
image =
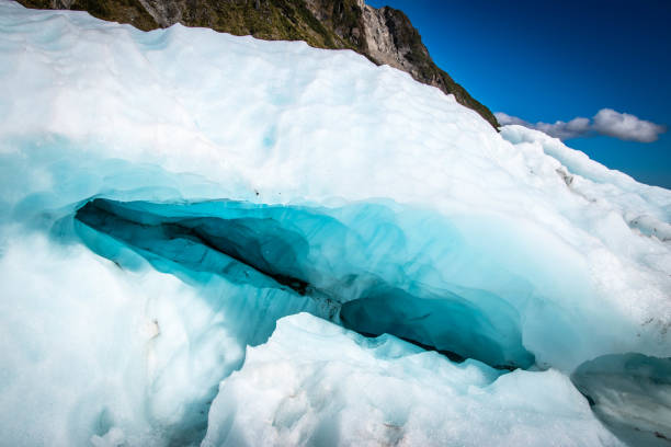
{"type": "Polygon", "coordinates": [[[671,192],[349,50],[0,0],[15,446],[666,445],[671,192]]]}

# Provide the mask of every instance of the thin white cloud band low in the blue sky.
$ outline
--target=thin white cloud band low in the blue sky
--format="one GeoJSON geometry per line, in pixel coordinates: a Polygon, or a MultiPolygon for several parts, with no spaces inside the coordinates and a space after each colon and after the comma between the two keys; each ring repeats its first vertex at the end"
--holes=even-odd
{"type": "Polygon", "coordinates": [[[592,119],[577,117],[569,122],[558,121],[551,123],[530,123],[503,112],[494,114],[501,125],[519,124],[546,133],[562,140],[591,135],[606,135],[628,141],[651,142],[667,131],[664,126],[649,121],[640,119],[628,113],[615,112],[612,108],[602,108],[592,119]]]}

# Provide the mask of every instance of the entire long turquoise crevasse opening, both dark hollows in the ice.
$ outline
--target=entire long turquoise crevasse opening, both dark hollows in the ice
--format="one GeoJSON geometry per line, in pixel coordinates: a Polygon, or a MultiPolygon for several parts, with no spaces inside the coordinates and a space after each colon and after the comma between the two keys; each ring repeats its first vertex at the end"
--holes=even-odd
{"type": "MultiPolygon", "coordinates": [[[[356,253],[362,248],[352,242],[362,239],[356,226],[328,213],[231,200],[95,198],[75,218],[166,273],[174,274],[179,265],[189,277],[219,275],[235,284],[282,288],[327,302],[328,318],[350,330],[389,333],[453,359],[476,358],[503,369],[534,364],[522,345],[519,316],[504,300],[485,290],[430,289],[409,274],[386,278],[369,271],[366,256],[356,253]]],[[[356,225],[371,224],[360,219],[356,225]]],[[[106,249],[90,247],[114,260],[106,249]]]]}

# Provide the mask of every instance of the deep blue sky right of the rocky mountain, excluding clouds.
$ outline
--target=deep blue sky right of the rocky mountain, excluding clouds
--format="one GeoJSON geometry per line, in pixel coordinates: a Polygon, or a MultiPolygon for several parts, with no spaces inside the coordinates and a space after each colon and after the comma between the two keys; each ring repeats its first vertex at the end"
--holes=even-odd
{"type": "MultiPolygon", "coordinates": [[[[492,112],[555,123],[611,108],[671,125],[671,1],[367,3],[402,10],[439,67],[492,112]]],[[[653,142],[609,136],[566,142],[609,168],[671,188],[669,131],[653,142]]]]}

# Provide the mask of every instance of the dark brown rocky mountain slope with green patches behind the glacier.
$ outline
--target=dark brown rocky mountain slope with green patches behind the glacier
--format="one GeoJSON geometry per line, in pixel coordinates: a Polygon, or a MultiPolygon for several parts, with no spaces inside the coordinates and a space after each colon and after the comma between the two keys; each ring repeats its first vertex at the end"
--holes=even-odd
{"type": "Polygon", "coordinates": [[[401,11],[364,0],[18,0],[29,8],[84,10],[140,30],[174,23],[271,41],[305,41],[318,48],[353,49],[377,65],[406,71],[479,113],[497,118],[431,59],[401,11]]]}

